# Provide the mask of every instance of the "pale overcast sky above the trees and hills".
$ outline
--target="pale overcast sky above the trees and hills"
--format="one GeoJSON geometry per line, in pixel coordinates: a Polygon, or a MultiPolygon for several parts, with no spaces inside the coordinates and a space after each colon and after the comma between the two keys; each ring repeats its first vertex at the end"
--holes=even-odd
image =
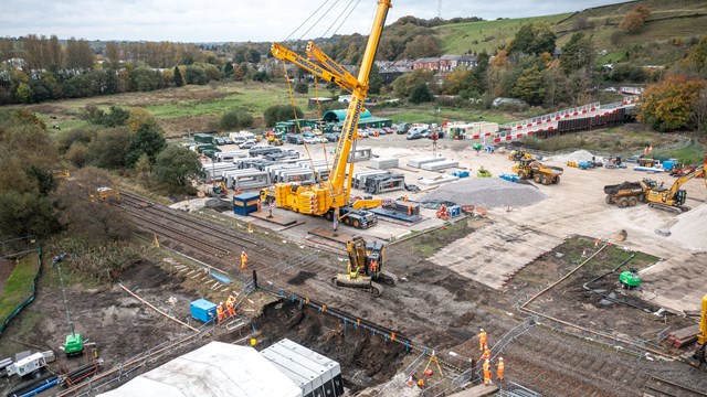
{"type": "MultiPolygon", "coordinates": [[[[442,18],[537,17],[621,2],[620,0],[442,0],[442,18]]],[[[314,20],[321,21],[304,39],[330,36],[338,15],[356,0],[2,0],[0,36],[28,33],[87,40],[178,42],[282,41],[317,8],[316,17],[293,37],[299,39],[314,20]]],[[[368,34],[374,0],[359,0],[338,33],[368,34]]],[[[388,23],[404,15],[431,19],[437,0],[393,0],[388,23]]],[[[340,20],[339,20],[340,21],[340,20]]]]}

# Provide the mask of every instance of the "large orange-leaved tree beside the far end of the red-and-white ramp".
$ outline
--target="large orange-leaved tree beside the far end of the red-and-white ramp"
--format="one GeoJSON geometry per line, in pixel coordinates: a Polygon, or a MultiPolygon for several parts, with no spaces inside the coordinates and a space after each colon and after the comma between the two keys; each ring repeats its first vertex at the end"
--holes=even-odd
{"type": "Polygon", "coordinates": [[[641,97],[639,120],[659,131],[685,128],[694,118],[694,104],[706,85],[706,81],[676,75],[648,86],[641,97]]]}

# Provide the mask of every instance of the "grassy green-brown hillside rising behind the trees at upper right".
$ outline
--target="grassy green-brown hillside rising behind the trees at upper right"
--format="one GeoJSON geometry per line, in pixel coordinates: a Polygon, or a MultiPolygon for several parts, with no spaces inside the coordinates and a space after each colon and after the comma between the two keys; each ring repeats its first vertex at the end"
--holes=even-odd
{"type": "Polygon", "coordinates": [[[690,37],[707,34],[707,0],[629,1],[569,14],[458,23],[436,29],[445,54],[463,54],[493,52],[510,42],[520,25],[537,22],[548,24],[562,46],[577,32],[576,23],[581,19],[590,24],[581,31],[592,36],[598,51],[605,50],[614,54],[614,58],[622,58],[627,51],[631,61],[644,65],[671,64],[682,57],[690,37]],[[637,4],[645,4],[652,11],[641,31],[615,33],[624,14],[637,4]],[[614,34],[615,44],[612,43],[614,34]]]}

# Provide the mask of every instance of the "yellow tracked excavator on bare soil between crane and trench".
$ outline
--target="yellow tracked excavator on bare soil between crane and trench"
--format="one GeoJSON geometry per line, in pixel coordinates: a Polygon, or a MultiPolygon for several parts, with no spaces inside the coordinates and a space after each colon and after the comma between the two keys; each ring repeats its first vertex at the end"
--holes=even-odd
{"type": "Polygon", "coordinates": [[[354,237],[346,243],[349,261],[346,273],[338,273],[333,278],[337,287],[361,288],[378,298],[383,293],[379,283],[394,286],[398,278],[383,271],[386,247],[380,242],[366,242],[362,237],[354,237]]]}

